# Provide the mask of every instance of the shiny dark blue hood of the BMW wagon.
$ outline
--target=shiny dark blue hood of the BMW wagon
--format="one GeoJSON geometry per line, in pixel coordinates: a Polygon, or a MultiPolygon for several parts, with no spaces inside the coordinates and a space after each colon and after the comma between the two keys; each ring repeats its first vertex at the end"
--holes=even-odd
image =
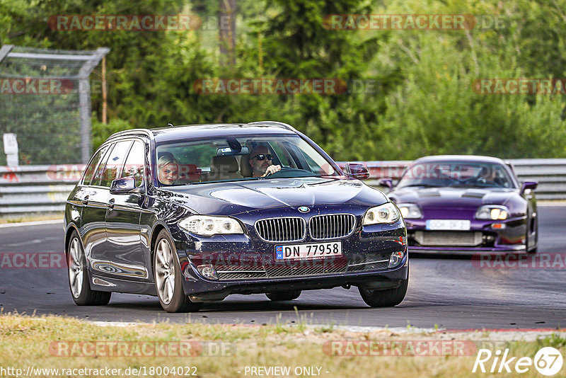
{"type": "Polygon", "coordinates": [[[345,178],[273,178],[159,188],[199,214],[233,215],[275,207],[311,205],[375,206],[388,202],[381,191],[345,178]]]}

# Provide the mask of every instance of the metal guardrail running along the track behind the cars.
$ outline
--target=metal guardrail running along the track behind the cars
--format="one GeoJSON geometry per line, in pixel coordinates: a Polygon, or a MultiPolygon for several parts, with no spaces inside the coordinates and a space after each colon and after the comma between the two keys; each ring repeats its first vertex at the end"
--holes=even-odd
{"type": "MultiPolygon", "coordinates": [[[[519,181],[538,181],[539,200],[566,200],[566,159],[514,159],[519,181]]],[[[379,178],[400,178],[410,161],[360,161],[369,169],[368,185],[379,178]]],[[[343,166],[344,163],[339,163],[343,166]]],[[[83,164],[0,166],[0,217],[64,210],[67,196],[81,177],[83,164]]]]}

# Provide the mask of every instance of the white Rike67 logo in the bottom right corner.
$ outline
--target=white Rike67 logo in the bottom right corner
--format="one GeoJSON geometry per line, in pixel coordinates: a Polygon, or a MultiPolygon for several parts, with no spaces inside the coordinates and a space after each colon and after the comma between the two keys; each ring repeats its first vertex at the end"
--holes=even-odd
{"type": "Polygon", "coordinates": [[[560,350],[552,347],[545,347],[538,350],[534,358],[531,357],[509,357],[509,349],[495,350],[493,353],[489,349],[478,350],[478,357],[475,358],[472,372],[490,372],[490,373],[510,373],[514,370],[516,373],[526,373],[531,367],[548,377],[560,372],[562,369],[562,354],[560,350]]]}

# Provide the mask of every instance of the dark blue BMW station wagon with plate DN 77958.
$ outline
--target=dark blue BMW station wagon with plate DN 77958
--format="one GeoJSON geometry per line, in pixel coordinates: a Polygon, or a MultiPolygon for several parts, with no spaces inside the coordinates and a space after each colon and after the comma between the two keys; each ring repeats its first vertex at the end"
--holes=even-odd
{"type": "Polygon", "coordinates": [[[408,287],[403,217],[282,122],[113,134],[64,215],[69,287],[79,305],[112,292],[156,295],[169,312],[229,294],[274,301],[356,286],[371,307],[408,287]]]}

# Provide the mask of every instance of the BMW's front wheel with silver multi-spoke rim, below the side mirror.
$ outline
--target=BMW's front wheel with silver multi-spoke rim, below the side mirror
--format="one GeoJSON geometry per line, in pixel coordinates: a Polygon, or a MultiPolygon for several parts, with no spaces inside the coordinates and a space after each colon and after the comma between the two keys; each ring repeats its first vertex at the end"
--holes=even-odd
{"type": "Polygon", "coordinates": [[[161,307],[167,312],[198,311],[202,303],[191,302],[183,291],[175,244],[166,230],[157,236],[154,251],[154,277],[161,307]]]}

